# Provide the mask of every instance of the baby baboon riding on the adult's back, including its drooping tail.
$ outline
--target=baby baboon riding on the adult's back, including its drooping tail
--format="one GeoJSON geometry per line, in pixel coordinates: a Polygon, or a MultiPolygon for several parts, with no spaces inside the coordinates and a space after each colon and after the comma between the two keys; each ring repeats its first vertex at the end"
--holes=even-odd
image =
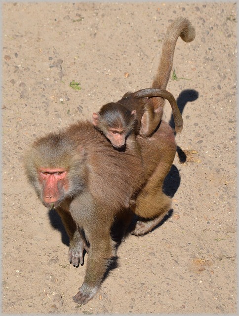
{"type": "Polygon", "coordinates": [[[134,93],[127,92],[120,101],[103,105],[98,113],[93,113],[92,123],[116,148],[124,146],[126,139],[132,133],[149,137],[161,119],[158,119],[158,113],[155,112],[153,103],[149,100],[152,97],[161,97],[169,101],[173,111],[175,130],[181,131],[183,119],[173,95],[166,90],[153,88],[134,93]]]}

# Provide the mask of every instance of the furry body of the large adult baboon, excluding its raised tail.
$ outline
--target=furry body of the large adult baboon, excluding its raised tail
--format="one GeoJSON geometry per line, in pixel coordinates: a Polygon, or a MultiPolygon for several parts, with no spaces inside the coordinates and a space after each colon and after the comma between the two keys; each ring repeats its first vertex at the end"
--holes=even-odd
{"type": "MultiPolygon", "coordinates": [[[[46,207],[56,208],[66,227],[70,262],[82,264],[84,249],[88,252],[85,279],[74,297],[79,304],[86,304],[95,295],[110,258],[115,256],[111,227],[116,218],[124,218],[129,224],[131,212],[124,206],[129,192],[135,198],[132,210],[140,216],[144,216],[145,209],[146,218],[162,217],[170,209],[162,182],[176,152],[173,131],[161,122],[151,140],[138,137],[138,143],[142,157],[128,148],[122,154],[90,122],[79,122],[39,138],[26,154],[30,183],[46,207]],[[53,191],[41,177],[54,177],[56,170],[66,172],[65,187],[58,200],[47,203],[42,192],[49,199],[47,192],[53,191]],[[161,205],[164,200],[166,203],[161,205]]],[[[58,184],[55,187],[57,192],[58,184]]],[[[147,233],[145,223],[137,223],[135,235],[147,233]]]]}

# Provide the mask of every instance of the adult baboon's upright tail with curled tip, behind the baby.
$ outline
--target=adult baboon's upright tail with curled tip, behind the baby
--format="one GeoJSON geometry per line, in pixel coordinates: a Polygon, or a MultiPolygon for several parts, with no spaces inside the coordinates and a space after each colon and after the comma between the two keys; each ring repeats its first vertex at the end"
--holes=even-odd
{"type": "Polygon", "coordinates": [[[172,71],[173,55],[178,37],[180,36],[185,42],[190,42],[194,40],[195,35],[194,27],[186,18],[179,17],[169,25],[162,46],[158,73],[152,88],[166,89],[172,71]]]}

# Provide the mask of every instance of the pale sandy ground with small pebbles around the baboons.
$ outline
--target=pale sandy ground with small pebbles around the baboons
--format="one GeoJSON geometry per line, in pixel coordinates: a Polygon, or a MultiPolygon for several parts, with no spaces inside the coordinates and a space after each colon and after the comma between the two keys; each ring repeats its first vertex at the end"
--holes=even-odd
{"type": "Polygon", "coordinates": [[[236,3],[16,2],[2,15],[2,313],[236,313],[236,3]],[[80,306],[72,297],[85,265],[69,264],[62,224],[28,185],[23,153],[36,136],[149,87],[178,16],[197,36],[178,40],[168,84],[187,155],[167,178],[171,217],[129,236],[118,267],[80,306]]]}

